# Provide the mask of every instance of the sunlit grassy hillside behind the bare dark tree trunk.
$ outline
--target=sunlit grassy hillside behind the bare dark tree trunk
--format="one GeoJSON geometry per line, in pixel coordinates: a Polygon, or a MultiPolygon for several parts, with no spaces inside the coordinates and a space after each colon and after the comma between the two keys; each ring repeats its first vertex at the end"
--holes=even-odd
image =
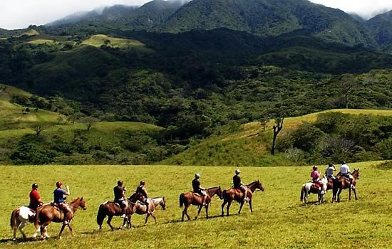
{"type": "MultiPolygon", "coordinates": [[[[287,133],[304,122],[315,122],[319,114],[326,112],[342,112],[353,115],[383,115],[392,116],[392,110],[328,110],[312,113],[301,117],[288,117],[284,120],[282,134],[287,133]]],[[[272,143],[272,126],[274,121],[269,121],[265,131],[259,122],[244,124],[239,131],[229,132],[222,136],[205,139],[185,152],[165,159],[161,164],[180,165],[290,165],[284,154],[270,155],[269,148],[272,143]]],[[[282,136],[281,134],[281,136],[282,136]]],[[[278,137],[279,138],[279,137],[278,137]]]]}

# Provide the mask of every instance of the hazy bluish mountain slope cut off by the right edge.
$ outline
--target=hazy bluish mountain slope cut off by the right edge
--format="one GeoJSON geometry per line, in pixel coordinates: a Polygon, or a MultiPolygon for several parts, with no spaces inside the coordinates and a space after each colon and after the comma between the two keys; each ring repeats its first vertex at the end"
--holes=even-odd
{"type": "MultiPolygon", "coordinates": [[[[366,21],[366,25],[382,48],[391,49],[392,46],[392,11],[380,14],[366,21]]],[[[392,50],[390,51],[392,52],[392,50]]]]}

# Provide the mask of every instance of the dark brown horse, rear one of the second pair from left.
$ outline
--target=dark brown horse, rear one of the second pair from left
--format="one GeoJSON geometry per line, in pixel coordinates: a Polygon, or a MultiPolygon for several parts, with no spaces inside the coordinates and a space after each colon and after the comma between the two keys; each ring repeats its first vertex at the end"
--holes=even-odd
{"type": "MultiPolygon", "coordinates": [[[[125,228],[126,223],[128,223],[128,228],[130,228],[130,216],[132,216],[132,208],[136,204],[136,202],[140,199],[141,195],[140,193],[136,192],[132,194],[129,198],[127,198],[127,207],[125,211],[125,218],[123,222],[123,226],[120,226],[120,228],[125,228]]],[[[105,201],[104,203],[100,204],[98,208],[98,213],[97,213],[97,223],[99,226],[99,231],[102,231],[102,223],[105,220],[106,216],[108,216],[108,223],[110,229],[114,231],[114,227],[112,226],[112,219],[113,216],[122,216],[123,211],[122,208],[118,203],[115,203],[114,201],[105,201]]]]}

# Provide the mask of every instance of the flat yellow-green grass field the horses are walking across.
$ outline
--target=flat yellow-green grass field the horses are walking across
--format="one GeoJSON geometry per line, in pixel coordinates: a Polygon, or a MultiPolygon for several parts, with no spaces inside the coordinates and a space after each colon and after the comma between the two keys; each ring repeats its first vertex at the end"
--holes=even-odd
{"type": "MultiPolygon", "coordinates": [[[[242,168],[242,179],[260,179],[265,191],[254,194],[254,213],[247,206],[237,215],[232,205],[229,217],[220,214],[219,199],[213,199],[210,216],[198,221],[180,222],[178,196],[189,191],[193,174],[201,174],[202,186],[231,184],[234,167],[205,166],[0,166],[0,248],[391,248],[392,246],[392,170],[379,162],[350,164],[360,168],[358,201],[348,201],[343,192],[341,203],[302,206],[301,184],[309,180],[310,167],[242,168]],[[122,179],[128,194],[138,181],[147,181],[150,196],[165,196],[167,210],[158,210],[158,225],[134,216],[131,230],[111,232],[104,226],[97,231],[98,206],[113,195],[113,186],[122,179]],[[10,240],[9,216],[17,206],[28,203],[30,186],[40,185],[44,201],[50,201],[56,181],[71,186],[70,199],[84,196],[88,210],[76,213],[75,238],[68,231],[63,240],[56,233],[59,224],[49,226],[47,241],[14,243],[10,240]]],[[[324,166],[321,166],[324,169],[324,166]]],[[[310,201],[316,201],[311,196],[310,201]]],[[[190,215],[195,216],[192,207],[190,215]]],[[[120,226],[120,218],[115,218],[120,226]]],[[[106,225],[104,223],[104,225],[106,225]]],[[[26,228],[32,235],[32,226],[26,228]]]]}

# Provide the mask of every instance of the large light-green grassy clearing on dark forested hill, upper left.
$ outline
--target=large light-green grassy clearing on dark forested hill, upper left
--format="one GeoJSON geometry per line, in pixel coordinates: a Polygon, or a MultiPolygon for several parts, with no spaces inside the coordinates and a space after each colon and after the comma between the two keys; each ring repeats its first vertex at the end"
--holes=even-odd
{"type": "Polygon", "coordinates": [[[110,41],[108,46],[112,46],[113,48],[135,48],[136,50],[151,52],[150,49],[145,48],[145,44],[130,39],[122,39],[122,38],[114,38],[105,35],[94,35],[83,41],[82,45],[95,46],[100,48],[100,46],[105,44],[105,41],[110,41]]]}

